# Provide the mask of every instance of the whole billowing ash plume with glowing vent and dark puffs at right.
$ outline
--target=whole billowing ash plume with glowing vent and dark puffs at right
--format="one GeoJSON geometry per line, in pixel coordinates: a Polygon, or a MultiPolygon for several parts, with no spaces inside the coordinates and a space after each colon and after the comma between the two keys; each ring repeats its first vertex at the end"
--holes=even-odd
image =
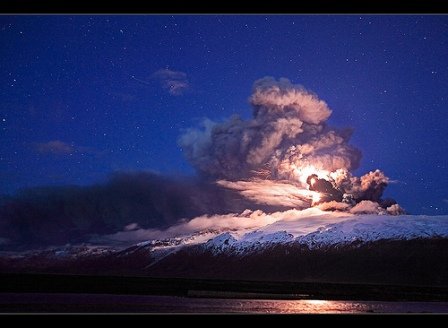
{"type": "Polygon", "coordinates": [[[332,111],[317,95],[288,79],[265,77],[254,83],[249,101],[252,119],[205,120],[202,129],[180,137],[187,159],[202,176],[256,202],[303,208],[369,200],[383,206],[388,178],[379,170],[361,178],[351,175],[361,152],[349,144],[350,129],[326,124],[332,111]]]}

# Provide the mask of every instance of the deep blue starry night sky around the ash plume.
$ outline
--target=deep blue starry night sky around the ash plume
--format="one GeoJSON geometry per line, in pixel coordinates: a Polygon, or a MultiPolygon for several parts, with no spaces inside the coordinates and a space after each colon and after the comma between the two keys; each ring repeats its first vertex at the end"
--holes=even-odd
{"type": "Polygon", "coordinates": [[[354,128],[356,174],[382,169],[408,212],[448,214],[448,16],[0,16],[0,44],[1,193],[193,174],[182,129],[248,118],[270,75],[354,128]]]}

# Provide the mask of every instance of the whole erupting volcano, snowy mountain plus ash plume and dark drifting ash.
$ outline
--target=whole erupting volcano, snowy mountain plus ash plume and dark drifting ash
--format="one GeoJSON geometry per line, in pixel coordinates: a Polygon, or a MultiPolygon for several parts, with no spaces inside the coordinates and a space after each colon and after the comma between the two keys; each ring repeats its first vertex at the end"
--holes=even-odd
{"type": "MultiPolygon", "coordinates": [[[[351,130],[327,124],[331,110],[324,101],[287,79],[266,77],[255,82],[250,102],[252,119],[205,120],[203,129],[189,129],[180,137],[179,144],[198,172],[193,180],[122,175],[100,188],[66,196],[70,204],[93,195],[107,199],[110,191],[118,191],[119,197],[106,206],[107,214],[118,212],[110,209],[128,211],[146,205],[147,210],[125,212],[142,213],[141,218],[126,217],[120,225],[118,217],[115,229],[86,234],[87,246],[29,252],[20,260],[0,257],[0,271],[55,268],[68,273],[105,270],[163,277],[326,281],[349,276],[363,282],[419,284],[428,282],[422,277],[430,277],[429,281],[446,282],[444,269],[403,276],[401,268],[412,271],[414,263],[400,262],[409,249],[427,260],[415,239],[424,239],[422,247],[436,245],[436,260],[443,258],[437,243],[446,243],[446,218],[402,215],[394,200],[382,198],[389,179],[380,170],[352,175],[361,152],[350,144],[351,130]],[[157,225],[153,223],[157,217],[172,221],[157,225]],[[400,242],[390,252],[391,240],[400,242]],[[369,265],[363,254],[370,254],[371,245],[388,259],[386,263],[401,264],[387,267],[380,259],[371,269],[374,277],[366,278],[365,270],[357,271],[356,266],[369,265]],[[354,250],[359,254],[350,255],[354,250]],[[308,259],[314,263],[315,256],[321,265],[317,269],[307,264],[308,259]],[[335,265],[335,256],[346,260],[335,265]],[[347,270],[351,267],[355,269],[347,270]],[[389,275],[392,271],[397,275],[389,275]]],[[[51,197],[56,199],[56,210],[49,206],[49,213],[60,217],[64,201],[59,193],[51,197]]],[[[14,205],[4,207],[12,218],[10,226],[23,217],[23,211],[14,209],[24,206],[14,205]]],[[[74,222],[80,216],[66,215],[72,215],[74,222]]],[[[29,240],[30,234],[23,236],[29,240]]]]}

